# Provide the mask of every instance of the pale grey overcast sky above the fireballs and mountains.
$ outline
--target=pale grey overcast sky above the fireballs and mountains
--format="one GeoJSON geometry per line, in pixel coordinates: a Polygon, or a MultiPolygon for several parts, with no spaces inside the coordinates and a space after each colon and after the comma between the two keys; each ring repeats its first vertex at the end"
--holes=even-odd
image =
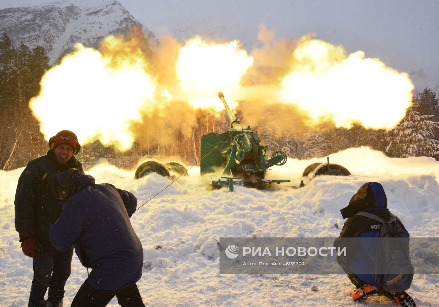
{"type": "MultiPolygon", "coordinates": [[[[100,0],[81,1],[98,4],[100,0]]],[[[46,2],[0,0],[0,8],[46,2]]],[[[434,84],[439,83],[439,0],[119,2],[156,35],[239,39],[251,50],[263,22],[278,38],[296,39],[313,32],[318,39],[344,46],[348,53],[363,50],[366,57],[378,57],[399,71],[422,68],[434,84]]]]}

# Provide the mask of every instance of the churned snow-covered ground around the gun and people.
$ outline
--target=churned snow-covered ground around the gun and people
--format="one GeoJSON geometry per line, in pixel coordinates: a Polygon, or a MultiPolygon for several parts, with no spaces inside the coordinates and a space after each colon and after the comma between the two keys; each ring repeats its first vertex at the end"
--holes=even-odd
{"type": "MultiPolygon", "coordinates": [[[[289,159],[272,168],[272,178],[298,184],[306,165],[325,161],[289,159]]],[[[432,158],[388,158],[369,148],[348,149],[330,156],[349,177],[321,176],[304,188],[257,190],[235,187],[212,190],[203,185],[199,168],[181,177],[141,207],[131,218],[144,247],[144,271],[137,285],[152,306],[276,305],[396,306],[385,297],[355,303],[354,287],[345,275],[220,275],[220,237],[336,237],[345,207],[356,190],[381,182],[389,208],[412,237],[439,236],[439,162],[432,158]],[[311,290],[317,286],[317,291],[311,290]]],[[[0,171],[0,306],[27,305],[32,259],[19,248],[14,229],[14,194],[23,171],[0,171]]],[[[109,182],[133,192],[138,206],[169,184],[158,175],[134,180],[126,171],[101,163],[88,171],[97,183],[109,182]]],[[[65,305],[87,277],[76,255],[65,286],[65,305]]],[[[438,275],[415,275],[408,291],[417,306],[439,306],[438,275]]],[[[109,306],[117,306],[113,299],[109,306]]]]}

